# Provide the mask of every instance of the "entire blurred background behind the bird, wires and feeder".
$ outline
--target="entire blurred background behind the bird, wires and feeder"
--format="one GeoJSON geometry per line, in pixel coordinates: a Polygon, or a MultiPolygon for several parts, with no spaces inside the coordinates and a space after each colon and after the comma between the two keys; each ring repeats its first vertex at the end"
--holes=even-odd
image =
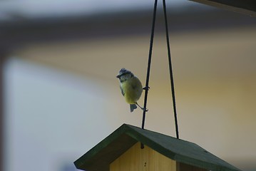
{"type": "MultiPolygon", "coordinates": [[[[180,139],[256,170],[256,20],[167,1],[180,139]]],[[[145,129],[175,137],[158,2],[145,129]]],[[[116,75],[145,85],[153,1],[0,2],[5,171],[71,171],[123,123],[140,127],[116,75]]],[[[143,104],[143,95],[139,100],[143,104]]]]}

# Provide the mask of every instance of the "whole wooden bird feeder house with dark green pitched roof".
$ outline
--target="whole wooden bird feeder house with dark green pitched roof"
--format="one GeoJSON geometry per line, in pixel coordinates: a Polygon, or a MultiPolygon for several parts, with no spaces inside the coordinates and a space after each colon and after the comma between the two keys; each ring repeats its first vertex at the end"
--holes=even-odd
{"type": "Polygon", "coordinates": [[[239,170],[193,142],[126,124],[74,164],[86,171],[239,170]]]}

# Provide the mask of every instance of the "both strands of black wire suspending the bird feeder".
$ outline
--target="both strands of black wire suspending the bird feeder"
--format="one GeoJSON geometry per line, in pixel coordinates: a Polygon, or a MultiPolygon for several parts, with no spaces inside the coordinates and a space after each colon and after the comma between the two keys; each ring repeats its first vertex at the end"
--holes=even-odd
{"type": "MultiPolygon", "coordinates": [[[[145,126],[145,113],[148,111],[147,108],[147,100],[148,100],[148,83],[149,83],[149,76],[150,76],[150,65],[151,65],[151,56],[152,56],[152,49],[153,49],[153,39],[154,39],[154,31],[155,31],[155,16],[156,16],[156,8],[157,8],[158,0],[155,0],[154,11],[153,11],[153,22],[152,22],[152,29],[151,29],[151,37],[150,37],[150,48],[148,54],[148,71],[147,71],[147,78],[145,82],[145,98],[144,98],[144,110],[143,110],[143,120],[141,128],[144,129],[145,126]]],[[[172,68],[172,61],[170,56],[170,41],[169,41],[169,33],[168,33],[168,20],[166,14],[166,4],[165,0],[163,0],[163,12],[165,16],[165,36],[166,36],[166,44],[168,48],[168,61],[169,61],[169,71],[170,71],[170,85],[173,97],[173,112],[175,118],[175,130],[176,130],[176,137],[179,139],[178,133],[178,119],[177,119],[177,111],[176,111],[176,103],[175,103],[175,90],[174,90],[174,81],[173,81],[173,68],[172,68]]],[[[144,147],[143,144],[140,145],[141,148],[144,147]]]]}

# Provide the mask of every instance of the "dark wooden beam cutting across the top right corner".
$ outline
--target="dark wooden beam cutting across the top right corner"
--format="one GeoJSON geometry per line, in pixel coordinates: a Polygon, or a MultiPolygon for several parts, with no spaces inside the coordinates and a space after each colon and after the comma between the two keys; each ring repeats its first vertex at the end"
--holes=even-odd
{"type": "Polygon", "coordinates": [[[190,0],[201,4],[215,6],[220,9],[227,9],[249,16],[256,16],[255,0],[190,0]]]}

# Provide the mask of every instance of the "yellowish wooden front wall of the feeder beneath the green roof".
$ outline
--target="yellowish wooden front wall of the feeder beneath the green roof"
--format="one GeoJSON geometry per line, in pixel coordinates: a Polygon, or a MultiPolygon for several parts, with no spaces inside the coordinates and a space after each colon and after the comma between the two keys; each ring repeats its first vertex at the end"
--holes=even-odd
{"type": "Polygon", "coordinates": [[[140,149],[140,142],[130,147],[110,165],[110,171],[175,171],[176,162],[146,146],[140,149]]]}

